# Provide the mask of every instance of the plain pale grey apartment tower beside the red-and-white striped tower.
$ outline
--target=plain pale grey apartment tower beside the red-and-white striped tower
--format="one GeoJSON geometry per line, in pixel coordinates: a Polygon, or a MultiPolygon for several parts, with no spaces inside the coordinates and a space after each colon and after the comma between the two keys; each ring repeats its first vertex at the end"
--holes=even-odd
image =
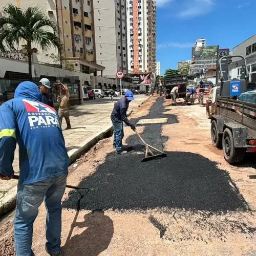
{"type": "MultiPolygon", "coordinates": [[[[81,0],[80,0],[81,1],[81,0]]],[[[127,75],[126,0],[94,0],[97,64],[103,74],[115,77],[118,70],[127,75]]]]}

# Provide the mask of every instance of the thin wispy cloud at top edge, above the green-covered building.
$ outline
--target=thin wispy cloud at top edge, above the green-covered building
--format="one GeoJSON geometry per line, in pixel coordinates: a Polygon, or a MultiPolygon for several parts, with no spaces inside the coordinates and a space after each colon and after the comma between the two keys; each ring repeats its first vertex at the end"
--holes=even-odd
{"type": "Polygon", "coordinates": [[[184,5],[184,10],[178,14],[180,18],[191,18],[206,14],[214,9],[213,0],[192,0],[184,5]]]}

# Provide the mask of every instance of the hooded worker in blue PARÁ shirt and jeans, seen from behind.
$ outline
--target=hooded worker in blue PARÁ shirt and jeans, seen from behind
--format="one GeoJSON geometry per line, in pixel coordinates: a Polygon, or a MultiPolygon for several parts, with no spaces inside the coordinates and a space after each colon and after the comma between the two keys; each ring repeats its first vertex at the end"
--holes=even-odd
{"type": "Polygon", "coordinates": [[[60,255],[61,199],[65,192],[69,157],[56,111],[41,103],[35,83],[25,81],[14,99],[0,106],[0,178],[13,177],[16,142],[19,181],[14,217],[17,256],[35,255],[31,249],[33,223],[45,200],[46,251],[60,255]]]}

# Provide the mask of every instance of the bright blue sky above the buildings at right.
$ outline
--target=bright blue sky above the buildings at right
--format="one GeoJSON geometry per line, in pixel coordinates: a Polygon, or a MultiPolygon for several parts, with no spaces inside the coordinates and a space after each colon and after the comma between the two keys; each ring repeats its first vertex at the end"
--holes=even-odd
{"type": "Polygon", "coordinates": [[[161,74],[191,59],[197,38],[206,45],[230,48],[256,33],[255,0],[155,0],[157,5],[157,61],[161,74]]]}

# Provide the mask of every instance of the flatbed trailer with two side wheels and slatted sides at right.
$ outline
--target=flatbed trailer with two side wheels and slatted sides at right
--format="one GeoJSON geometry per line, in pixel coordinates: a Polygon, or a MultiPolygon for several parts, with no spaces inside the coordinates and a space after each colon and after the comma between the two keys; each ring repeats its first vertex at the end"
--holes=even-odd
{"type": "Polygon", "coordinates": [[[212,144],[228,163],[242,162],[246,152],[256,152],[256,104],[217,97],[214,108],[212,144]]]}

